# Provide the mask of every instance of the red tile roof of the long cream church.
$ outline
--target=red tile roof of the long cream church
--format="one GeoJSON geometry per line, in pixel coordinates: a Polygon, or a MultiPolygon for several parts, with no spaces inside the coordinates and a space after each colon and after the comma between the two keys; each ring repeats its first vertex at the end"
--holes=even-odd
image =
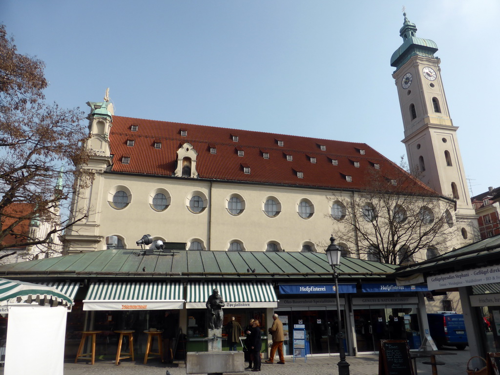
{"type": "MultiPolygon", "coordinates": [[[[114,155],[112,170],[117,172],[170,176],[176,167],[176,151],[188,142],[198,152],[198,178],[363,189],[374,163],[380,165],[387,179],[400,180],[401,173],[406,175],[366,143],[122,116],[113,116],[109,140],[114,155]],[[137,131],[131,131],[131,125],[137,125],[137,131]],[[181,136],[180,130],[186,130],[187,136],[181,136]],[[232,140],[233,135],[238,136],[237,142],[232,140]],[[126,145],[128,139],[135,141],[133,146],[126,145]],[[283,141],[283,146],[278,146],[278,140],[283,141]],[[154,142],[159,141],[161,148],[154,148],[154,142]],[[210,147],[216,148],[216,153],[210,153],[210,147]],[[238,156],[236,149],[243,150],[244,156],[238,156]],[[263,152],[269,153],[268,159],[263,158],[263,152]],[[286,155],[292,155],[293,160],[288,161],[286,155]],[[123,156],[130,157],[128,164],[121,163],[123,156]],[[311,163],[310,157],[315,157],[316,162],[311,163]],[[333,165],[332,159],[338,160],[338,165],[333,165]],[[354,161],[359,162],[359,167],[354,166],[354,161]],[[250,167],[250,174],[243,172],[242,165],[250,167]],[[297,171],[303,172],[303,178],[297,177],[297,171]],[[345,176],[351,176],[352,182],[347,182],[345,176]]],[[[418,185],[421,193],[435,193],[416,179],[412,184],[418,185]]]]}

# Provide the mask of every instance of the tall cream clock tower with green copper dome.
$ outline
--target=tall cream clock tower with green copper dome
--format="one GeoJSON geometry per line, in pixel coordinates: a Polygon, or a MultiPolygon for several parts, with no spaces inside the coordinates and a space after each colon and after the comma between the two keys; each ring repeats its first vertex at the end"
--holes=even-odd
{"type": "Polygon", "coordinates": [[[440,195],[456,201],[455,217],[466,238],[475,234],[477,218],[463,170],[454,126],[441,80],[435,42],[416,37],[416,26],[403,13],[403,43],[390,58],[404,125],[408,165],[440,195]],[[465,232],[464,232],[465,230],[465,232]],[[467,234],[468,233],[468,234],[467,234]]]}

